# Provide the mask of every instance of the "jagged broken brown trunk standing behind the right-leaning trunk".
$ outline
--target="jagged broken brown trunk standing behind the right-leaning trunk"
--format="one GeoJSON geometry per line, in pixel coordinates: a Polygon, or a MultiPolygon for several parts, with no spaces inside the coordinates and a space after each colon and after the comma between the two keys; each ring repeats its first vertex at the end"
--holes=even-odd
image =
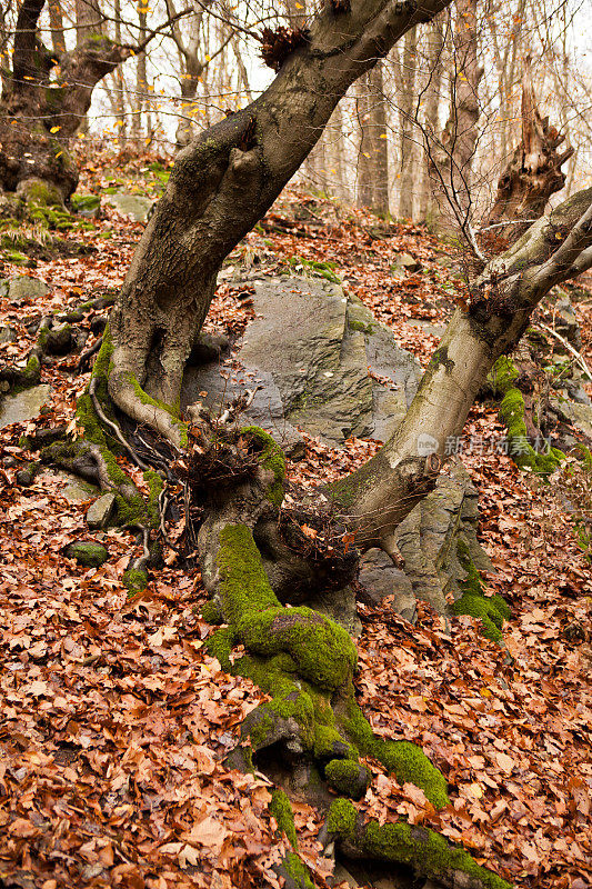
{"type": "Polygon", "coordinates": [[[572,148],[558,151],[565,141],[549,118],[541,118],[526,60],[522,78],[522,139],[498,182],[495,203],[488,226],[494,238],[518,240],[539,219],[549,199],[565,184],[561,167],[573,154],[572,148]],[[508,224],[502,224],[508,222],[508,224]]]}

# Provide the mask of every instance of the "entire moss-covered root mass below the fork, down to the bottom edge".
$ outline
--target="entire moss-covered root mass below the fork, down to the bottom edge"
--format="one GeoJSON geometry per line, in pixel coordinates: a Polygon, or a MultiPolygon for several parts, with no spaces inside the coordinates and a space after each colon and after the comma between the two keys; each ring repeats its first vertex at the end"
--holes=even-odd
{"type": "MultiPolygon", "coordinates": [[[[415,745],[374,735],[355,701],[357,651],[349,635],[310,608],[280,605],[245,523],[229,521],[220,528],[215,563],[217,589],[208,613],[227,626],[210,638],[209,651],[224,669],[251,678],[271,696],[241,727],[258,768],[290,795],[329,809],[331,833],[347,855],[407,863],[450,887],[505,887],[468,852],[450,847],[432,831],[404,822],[384,828],[363,823],[353,803],[344,799],[360,799],[369,786],[361,756],[379,759],[399,781],[421,787],[438,809],[449,802],[444,777],[415,745]],[[245,653],[232,658],[237,643],[244,646],[245,653]],[[337,801],[334,792],[340,795],[337,801]]],[[[239,749],[249,768],[250,756],[244,757],[244,746],[239,749]]],[[[240,760],[233,758],[233,762],[240,760]]],[[[275,791],[272,813],[295,856],[289,805],[285,792],[275,791]]],[[[291,885],[308,885],[302,882],[305,872],[298,862],[292,862],[297,881],[291,885]]]]}

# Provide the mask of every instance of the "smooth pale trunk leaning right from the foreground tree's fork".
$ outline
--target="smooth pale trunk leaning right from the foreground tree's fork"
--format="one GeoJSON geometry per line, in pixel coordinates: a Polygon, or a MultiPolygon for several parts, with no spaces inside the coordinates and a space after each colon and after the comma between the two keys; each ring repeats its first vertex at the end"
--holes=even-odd
{"type": "Polygon", "coordinates": [[[375,457],[332,486],[357,546],[391,552],[392,532],[433,486],[446,441],[461,433],[486,374],[520,341],[539,301],[592,264],[591,246],[588,189],[531,226],[471,284],[468,308],[454,312],[401,426],[375,457]]]}

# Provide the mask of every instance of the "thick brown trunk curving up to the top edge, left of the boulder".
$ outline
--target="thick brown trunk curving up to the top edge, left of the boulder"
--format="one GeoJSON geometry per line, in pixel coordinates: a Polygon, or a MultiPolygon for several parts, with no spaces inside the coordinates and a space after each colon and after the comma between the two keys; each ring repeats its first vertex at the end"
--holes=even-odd
{"type": "MultiPolygon", "coordinates": [[[[430,0],[421,16],[446,1],[430,0]]],[[[412,6],[361,0],[350,11],[325,9],[255,102],[179,154],[111,319],[109,392],[134,420],[181,442],[171,411],[222,260],[301,166],[349,86],[418,14],[412,6]]]]}

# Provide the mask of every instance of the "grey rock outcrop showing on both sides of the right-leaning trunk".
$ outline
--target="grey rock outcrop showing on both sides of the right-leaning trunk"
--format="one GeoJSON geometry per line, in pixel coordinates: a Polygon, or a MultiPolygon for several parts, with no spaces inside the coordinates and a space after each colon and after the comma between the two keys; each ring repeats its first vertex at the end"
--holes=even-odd
{"type": "MultiPolygon", "coordinates": [[[[328,281],[254,283],[255,318],[234,354],[224,361],[213,352],[213,360],[190,368],[182,406],[202,400],[220,410],[223,401],[259,384],[242,419],[270,431],[287,450],[298,444],[298,428],[332,446],[350,436],[390,438],[421,379],[419,363],[395,343],[392,331],[328,281]]],[[[200,353],[208,359],[207,349],[200,353]]],[[[446,593],[459,597],[466,573],[458,558],[460,542],[478,568],[492,570],[476,541],[476,491],[455,461],[397,530],[404,571],[380,550],[363,557],[360,581],[368,600],[394,596],[393,608],[409,619],[418,598],[443,613],[446,593]]],[[[314,607],[355,633],[353,597],[344,591],[337,610],[333,598],[314,607]]]]}

